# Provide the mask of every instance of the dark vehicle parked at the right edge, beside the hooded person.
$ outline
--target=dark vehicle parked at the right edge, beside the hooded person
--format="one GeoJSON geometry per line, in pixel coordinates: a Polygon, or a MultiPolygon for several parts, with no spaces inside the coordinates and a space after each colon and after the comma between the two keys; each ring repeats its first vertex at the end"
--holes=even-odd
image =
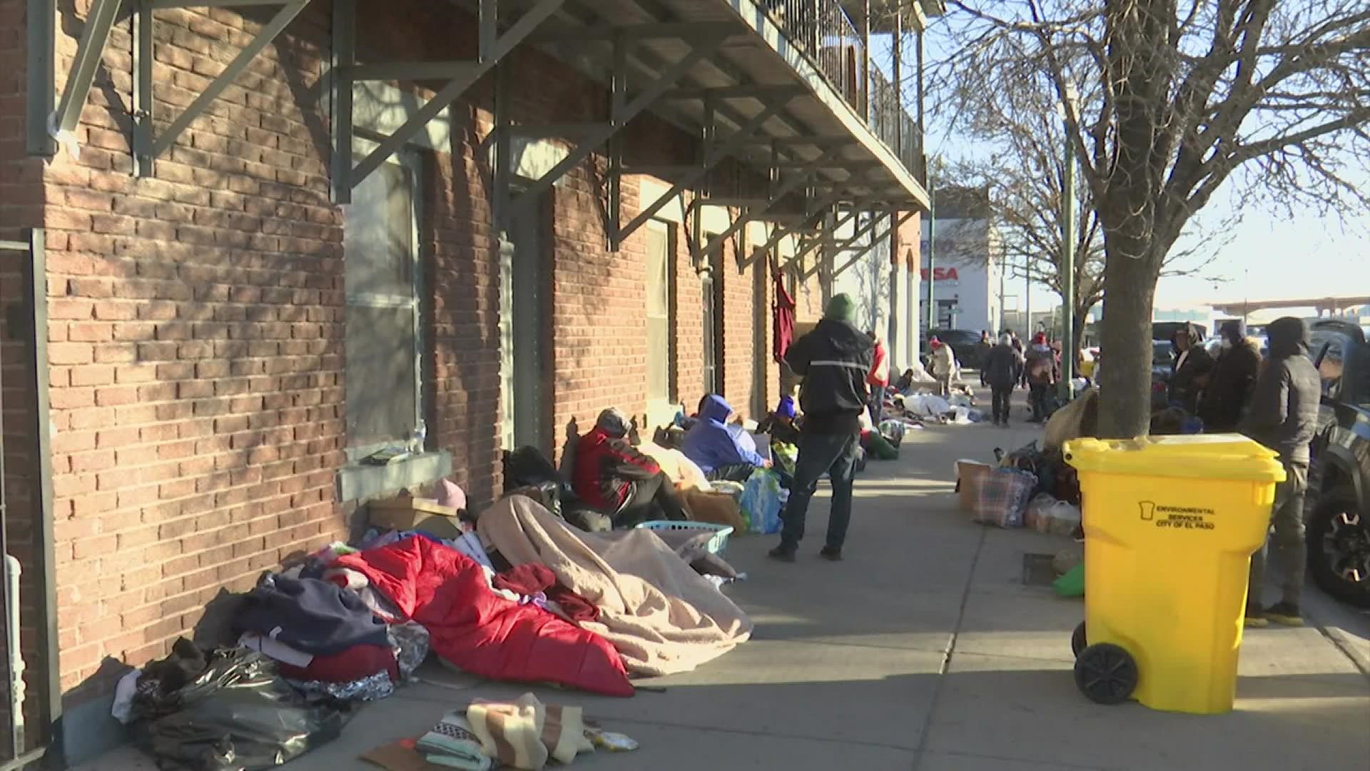
{"type": "Polygon", "coordinates": [[[1308,468],[1308,569],[1328,594],[1370,608],[1370,342],[1360,327],[1310,324],[1322,410],[1308,468]]]}

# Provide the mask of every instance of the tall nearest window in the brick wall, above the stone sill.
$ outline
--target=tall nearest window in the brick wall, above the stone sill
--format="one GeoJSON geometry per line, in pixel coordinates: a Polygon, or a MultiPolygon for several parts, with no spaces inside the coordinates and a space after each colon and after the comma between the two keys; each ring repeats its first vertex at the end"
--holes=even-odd
{"type": "MultiPolygon", "coordinates": [[[[364,152],[364,150],[362,150],[364,152]]],[[[353,455],[422,427],[416,165],[381,163],[344,207],[347,434],[353,455]]]]}

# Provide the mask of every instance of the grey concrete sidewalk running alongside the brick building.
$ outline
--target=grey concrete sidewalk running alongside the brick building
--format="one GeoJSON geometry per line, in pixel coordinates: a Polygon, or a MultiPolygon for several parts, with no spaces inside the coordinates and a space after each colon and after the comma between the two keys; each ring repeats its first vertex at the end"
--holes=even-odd
{"type": "MultiPolygon", "coordinates": [[[[975,525],[956,510],[949,482],[955,458],[989,458],[995,446],[1038,434],[986,424],[910,432],[899,461],[873,462],[858,483],[845,562],[817,558],[826,493],[814,501],[799,564],[764,558],[773,536],[734,539],[729,558],[749,579],[727,591],[756,621],[751,642],[652,683],[664,693],[610,700],[533,689],[584,705],[643,745],[575,767],[1370,768],[1370,679],[1344,652],[1366,642],[1363,628],[1338,626],[1341,648],[1318,627],[1249,632],[1229,715],[1107,708],[1075,690],[1070,631],[1082,602],[1021,583],[1023,553],[1070,542],[975,525]]],[[[436,667],[426,676],[366,707],[342,738],[289,768],[369,768],[358,760],[369,748],[421,734],[473,697],[527,690],[436,667]]],[[[153,766],[123,750],[88,768],[153,766]]]]}

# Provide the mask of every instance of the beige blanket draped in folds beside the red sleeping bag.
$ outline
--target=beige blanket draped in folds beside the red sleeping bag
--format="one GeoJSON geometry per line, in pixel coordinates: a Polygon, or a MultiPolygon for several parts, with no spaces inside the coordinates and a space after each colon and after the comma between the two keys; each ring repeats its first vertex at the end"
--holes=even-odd
{"type": "Polygon", "coordinates": [[[540,562],[600,609],[603,635],[633,675],[688,672],[744,642],[752,621],[655,532],[589,534],[522,495],[481,513],[481,536],[514,565],[540,562]]]}

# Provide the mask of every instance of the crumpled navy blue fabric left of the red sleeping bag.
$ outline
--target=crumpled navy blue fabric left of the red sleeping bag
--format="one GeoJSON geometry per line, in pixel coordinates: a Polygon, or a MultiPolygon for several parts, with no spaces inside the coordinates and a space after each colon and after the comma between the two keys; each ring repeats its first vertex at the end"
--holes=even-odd
{"type": "Polygon", "coordinates": [[[355,591],[319,579],[267,578],[248,594],[237,626],[323,656],[353,645],[389,645],[385,621],[355,591]]]}

